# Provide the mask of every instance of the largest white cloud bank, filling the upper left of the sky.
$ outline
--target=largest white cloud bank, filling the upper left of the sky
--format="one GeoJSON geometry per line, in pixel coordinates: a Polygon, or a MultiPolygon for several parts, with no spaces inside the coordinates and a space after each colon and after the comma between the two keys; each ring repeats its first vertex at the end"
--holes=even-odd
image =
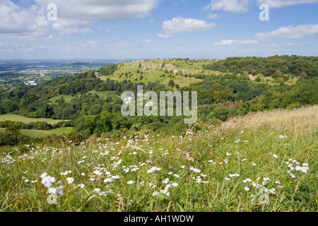
{"type": "Polygon", "coordinates": [[[0,36],[53,40],[54,35],[90,33],[98,20],[145,18],[159,0],[34,0],[29,7],[0,1],[0,36]],[[47,20],[47,6],[57,5],[57,21],[47,20]]]}

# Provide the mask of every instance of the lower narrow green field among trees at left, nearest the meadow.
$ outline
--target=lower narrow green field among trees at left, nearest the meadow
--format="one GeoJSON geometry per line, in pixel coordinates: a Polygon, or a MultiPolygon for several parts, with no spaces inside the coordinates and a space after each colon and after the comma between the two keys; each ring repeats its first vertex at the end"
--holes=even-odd
{"type": "MultiPolygon", "coordinates": [[[[52,130],[21,129],[20,132],[22,135],[30,136],[32,138],[45,138],[53,134],[61,135],[63,133],[71,133],[72,129],[72,127],[64,127],[52,130]]],[[[0,133],[4,133],[5,131],[5,128],[0,128],[0,133]]]]}

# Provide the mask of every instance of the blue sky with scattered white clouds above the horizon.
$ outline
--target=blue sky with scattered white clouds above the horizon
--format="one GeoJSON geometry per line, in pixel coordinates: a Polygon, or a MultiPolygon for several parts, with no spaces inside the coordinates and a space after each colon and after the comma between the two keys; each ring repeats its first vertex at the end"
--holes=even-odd
{"type": "Polygon", "coordinates": [[[317,12],[318,0],[0,0],[0,59],[317,57],[317,12]]]}

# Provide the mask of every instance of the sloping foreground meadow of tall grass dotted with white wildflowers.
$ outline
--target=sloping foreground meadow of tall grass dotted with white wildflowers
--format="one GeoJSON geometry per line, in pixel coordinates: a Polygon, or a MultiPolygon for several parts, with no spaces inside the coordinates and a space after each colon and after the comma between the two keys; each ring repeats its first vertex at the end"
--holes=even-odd
{"type": "Polygon", "coordinates": [[[0,154],[0,211],[317,211],[318,106],[0,154]]]}

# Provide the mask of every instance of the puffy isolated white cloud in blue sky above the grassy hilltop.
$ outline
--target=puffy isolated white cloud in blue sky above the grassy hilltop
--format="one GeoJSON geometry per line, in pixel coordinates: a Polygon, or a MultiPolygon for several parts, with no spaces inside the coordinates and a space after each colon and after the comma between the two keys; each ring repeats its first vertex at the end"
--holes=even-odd
{"type": "Polygon", "coordinates": [[[172,37],[184,32],[199,32],[209,30],[215,26],[215,23],[206,23],[204,20],[182,17],[172,18],[172,20],[163,21],[162,28],[165,34],[158,34],[158,37],[172,37]]]}

